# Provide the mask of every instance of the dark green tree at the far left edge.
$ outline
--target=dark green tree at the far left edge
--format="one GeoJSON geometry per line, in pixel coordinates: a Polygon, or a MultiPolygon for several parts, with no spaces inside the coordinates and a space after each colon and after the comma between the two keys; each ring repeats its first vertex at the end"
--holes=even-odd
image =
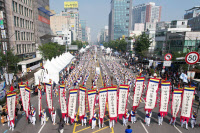
{"type": "Polygon", "coordinates": [[[17,63],[20,61],[19,57],[14,55],[12,51],[7,51],[6,54],[0,53],[0,66],[8,68],[7,72],[17,72],[17,63]]]}

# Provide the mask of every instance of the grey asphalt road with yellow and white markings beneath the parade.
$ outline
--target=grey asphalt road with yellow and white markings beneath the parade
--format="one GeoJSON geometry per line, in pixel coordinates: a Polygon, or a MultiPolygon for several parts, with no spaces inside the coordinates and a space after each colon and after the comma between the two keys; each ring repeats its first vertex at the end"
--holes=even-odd
{"type": "MultiPolygon", "coordinates": [[[[101,59],[102,62],[105,64],[106,61],[103,58],[102,53],[98,53],[99,56],[97,57],[98,61],[96,62],[96,66],[99,66],[99,60],[101,59]]],[[[117,59],[117,61],[119,61],[120,59],[117,59]]],[[[106,67],[106,71],[108,72],[109,75],[111,75],[109,69],[106,67]]],[[[131,71],[131,70],[129,70],[131,71]]],[[[91,73],[91,75],[93,75],[91,73]]],[[[92,77],[92,76],[91,76],[92,77]]],[[[89,83],[91,81],[91,77],[88,79],[88,83],[86,88],[91,88],[91,83],[89,83]]],[[[145,84],[147,84],[147,81],[145,81],[145,84]]],[[[116,85],[116,81],[114,81],[114,85],[116,85]]],[[[99,77],[98,80],[98,84],[97,84],[98,88],[103,87],[103,83],[102,83],[102,74],[99,77]]],[[[146,91],[143,91],[146,92],[146,91]]],[[[67,95],[68,96],[68,95],[67,95]]],[[[159,96],[159,93],[158,93],[159,96]]],[[[61,112],[60,112],[60,105],[59,105],[59,97],[52,97],[53,98],[53,106],[56,108],[57,111],[57,116],[56,116],[56,122],[58,123],[61,117],[61,112]]],[[[67,97],[68,98],[68,97],[67,97]]],[[[137,122],[135,124],[132,124],[130,122],[128,122],[128,124],[131,126],[131,129],[133,130],[133,133],[200,133],[200,127],[195,127],[194,129],[191,128],[191,124],[189,122],[188,127],[189,130],[186,130],[185,128],[182,128],[180,125],[180,113],[177,117],[176,120],[176,126],[172,126],[169,125],[169,120],[171,117],[171,101],[169,104],[169,109],[168,109],[168,115],[166,117],[164,117],[164,121],[163,121],[163,125],[159,126],[158,125],[158,118],[157,118],[157,113],[159,111],[159,98],[158,98],[158,102],[157,102],[157,107],[152,111],[152,118],[151,118],[151,124],[150,126],[146,126],[144,123],[144,118],[145,118],[145,111],[144,111],[144,106],[145,106],[145,102],[144,102],[144,98],[145,98],[145,93],[143,93],[142,99],[141,99],[141,103],[140,106],[137,108],[137,113],[136,113],[136,118],[137,118],[137,122]]],[[[128,97],[128,106],[127,108],[129,109],[129,111],[132,109],[132,101],[133,101],[133,92],[130,92],[130,96],[128,97]]],[[[36,108],[36,112],[38,113],[38,97],[37,96],[31,96],[31,105],[33,105],[36,108]]],[[[47,123],[44,126],[40,125],[40,120],[37,115],[37,121],[36,121],[36,125],[33,126],[32,124],[28,124],[28,121],[26,120],[25,115],[22,114],[22,112],[19,111],[18,114],[18,119],[16,120],[15,123],[15,130],[14,131],[10,131],[8,130],[8,126],[7,124],[5,124],[4,126],[2,126],[2,124],[0,124],[0,133],[57,133],[58,132],[58,124],[57,125],[53,125],[52,121],[50,120],[50,114],[48,113],[47,110],[47,104],[46,104],[46,95],[42,96],[42,106],[43,108],[46,109],[47,112],[47,117],[49,117],[49,120],[47,121],[47,123]]],[[[76,106],[77,112],[78,112],[78,101],[77,101],[77,106],[76,106]]],[[[98,107],[95,107],[96,111],[98,112],[98,107]]],[[[196,103],[194,103],[193,105],[193,109],[196,110],[197,109],[197,105],[196,103]]],[[[124,133],[126,127],[122,126],[122,120],[118,120],[118,122],[115,124],[115,127],[113,129],[109,128],[109,116],[108,116],[108,108],[106,109],[106,116],[104,119],[104,127],[99,129],[98,124],[96,126],[95,129],[91,129],[91,126],[87,123],[87,126],[83,126],[81,125],[81,123],[78,121],[77,123],[73,124],[73,125],[65,125],[64,127],[64,133],[124,133]]],[[[87,108],[87,113],[89,116],[89,111],[87,108]]],[[[200,116],[200,111],[198,113],[198,116],[200,116]]],[[[200,123],[200,118],[197,118],[197,123],[200,123]]]]}

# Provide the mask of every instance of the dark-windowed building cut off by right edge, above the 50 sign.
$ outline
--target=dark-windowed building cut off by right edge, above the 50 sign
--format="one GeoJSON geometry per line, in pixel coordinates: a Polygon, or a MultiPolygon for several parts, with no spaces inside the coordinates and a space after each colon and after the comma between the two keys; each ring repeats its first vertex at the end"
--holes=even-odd
{"type": "Polygon", "coordinates": [[[188,19],[188,26],[193,31],[200,31],[200,6],[186,10],[184,19],[188,19]]]}

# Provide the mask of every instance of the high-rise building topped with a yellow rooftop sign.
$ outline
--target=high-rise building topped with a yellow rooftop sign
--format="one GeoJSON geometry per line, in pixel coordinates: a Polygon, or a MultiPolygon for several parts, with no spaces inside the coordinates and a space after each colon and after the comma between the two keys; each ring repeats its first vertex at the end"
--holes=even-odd
{"type": "Polygon", "coordinates": [[[62,12],[62,16],[69,16],[71,19],[75,19],[74,24],[71,24],[71,30],[74,34],[74,40],[79,40],[79,5],[78,1],[66,1],[64,2],[65,12],[62,12]]]}

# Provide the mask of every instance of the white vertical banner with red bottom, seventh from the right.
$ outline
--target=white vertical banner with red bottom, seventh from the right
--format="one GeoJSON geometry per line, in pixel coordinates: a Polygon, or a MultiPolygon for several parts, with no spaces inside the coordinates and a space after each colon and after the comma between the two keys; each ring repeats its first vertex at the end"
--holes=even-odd
{"type": "Polygon", "coordinates": [[[117,121],[117,87],[108,87],[108,108],[110,121],[117,121]]]}

